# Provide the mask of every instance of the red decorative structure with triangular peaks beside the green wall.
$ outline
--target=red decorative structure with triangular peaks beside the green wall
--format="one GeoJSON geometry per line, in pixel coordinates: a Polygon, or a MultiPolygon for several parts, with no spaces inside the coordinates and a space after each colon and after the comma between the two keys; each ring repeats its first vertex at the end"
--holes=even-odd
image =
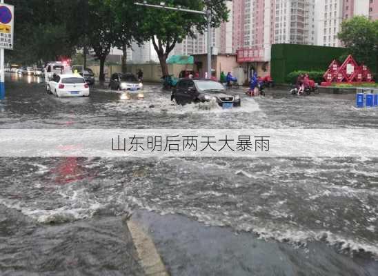
{"type": "Polygon", "coordinates": [[[326,81],[321,83],[322,86],[330,86],[332,83],[356,84],[373,81],[368,66],[364,64],[359,66],[352,55],[349,55],[341,66],[336,60],[332,61],[323,77],[326,81]]]}

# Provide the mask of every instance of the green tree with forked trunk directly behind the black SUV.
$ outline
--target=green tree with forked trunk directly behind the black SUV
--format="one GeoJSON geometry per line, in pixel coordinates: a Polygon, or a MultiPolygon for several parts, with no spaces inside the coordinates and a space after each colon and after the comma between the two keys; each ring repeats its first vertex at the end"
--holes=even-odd
{"type": "MultiPolygon", "coordinates": [[[[159,5],[159,0],[148,1],[159,5]]],[[[228,12],[224,0],[166,0],[166,6],[181,6],[190,10],[205,10],[209,8],[212,14],[212,27],[218,27],[222,21],[227,21],[228,12]]],[[[159,57],[163,76],[169,75],[167,58],[170,52],[187,36],[195,37],[195,31],[203,33],[207,28],[206,18],[201,14],[161,10],[156,8],[141,8],[144,15],[139,30],[143,37],[152,41],[159,57]]]]}

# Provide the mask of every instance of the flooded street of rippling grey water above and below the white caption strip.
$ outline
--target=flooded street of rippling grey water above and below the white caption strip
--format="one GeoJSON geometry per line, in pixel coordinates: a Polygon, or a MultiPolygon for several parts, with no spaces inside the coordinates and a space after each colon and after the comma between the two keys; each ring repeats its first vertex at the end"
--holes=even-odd
{"type": "MultiPolygon", "coordinates": [[[[241,108],[222,110],[177,106],[159,84],[146,84],[143,99],[100,86],[65,99],[37,77],[7,80],[0,128],[378,129],[377,108],[357,110],[354,95],[249,98],[241,88],[241,108]]],[[[378,275],[377,158],[0,164],[1,275],[144,275],[130,215],[171,275],[378,275]]]]}

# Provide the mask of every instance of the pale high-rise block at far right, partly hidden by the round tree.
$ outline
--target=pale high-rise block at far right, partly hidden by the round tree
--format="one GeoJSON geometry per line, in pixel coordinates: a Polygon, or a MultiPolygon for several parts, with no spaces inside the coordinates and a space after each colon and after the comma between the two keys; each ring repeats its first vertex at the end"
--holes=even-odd
{"type": "Polygon", "coordinates": [[[320,46],[342,46],[337,39],[341,30],[341,23],[355,15],[374,17],[372,8],[377,8],[378,0],[317,0],[318,9],[318,36],[320,46]]]}

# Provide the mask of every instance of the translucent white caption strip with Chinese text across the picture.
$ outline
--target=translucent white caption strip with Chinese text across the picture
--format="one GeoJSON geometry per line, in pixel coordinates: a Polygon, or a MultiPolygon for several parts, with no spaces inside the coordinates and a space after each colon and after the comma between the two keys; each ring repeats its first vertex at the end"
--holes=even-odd
{"type": "Polygon", "coordinates": [[[0,157],[378,157],[378,130],[1,129],[0,157]]]}

